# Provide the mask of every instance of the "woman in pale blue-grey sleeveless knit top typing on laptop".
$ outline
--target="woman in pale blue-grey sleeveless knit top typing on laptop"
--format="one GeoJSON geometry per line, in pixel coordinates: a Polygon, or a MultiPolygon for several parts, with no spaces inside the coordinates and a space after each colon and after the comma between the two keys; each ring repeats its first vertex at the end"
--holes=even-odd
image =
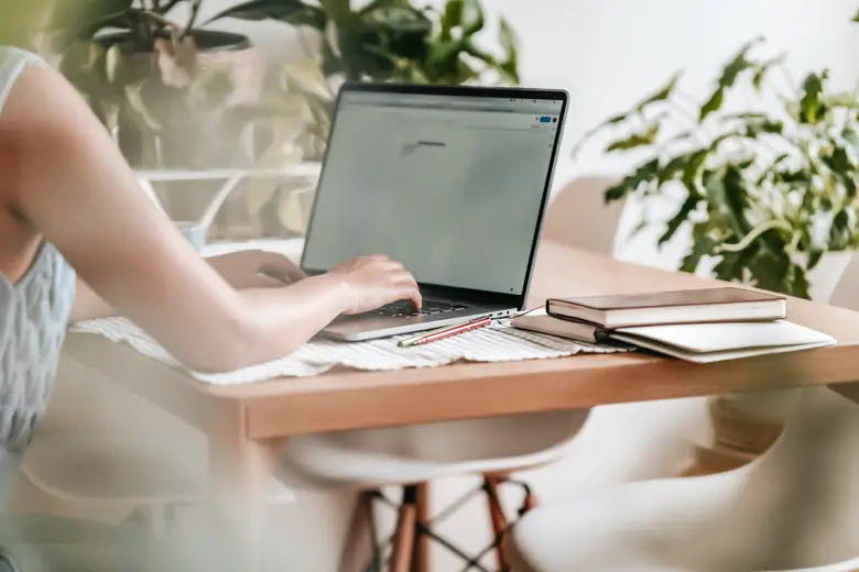
{"type": "Polygon", "coordinates": [[[44,410],[69,321],[121,312],[191,367],[227,371],[289,354],[338,315],[398,299],[421,305],[412,275],[383,255],[314,277],[261,252],[202,260],[140,191],[75,89],[36,56],[0,47],[7,476],[44,410]]]}

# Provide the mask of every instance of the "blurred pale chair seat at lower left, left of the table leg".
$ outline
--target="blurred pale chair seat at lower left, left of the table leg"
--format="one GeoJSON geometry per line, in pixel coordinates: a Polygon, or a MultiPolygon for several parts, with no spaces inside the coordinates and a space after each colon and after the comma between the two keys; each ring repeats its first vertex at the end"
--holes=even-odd
{"type": "MultiPolygon", "coordinates": [[[[170,447],[145,437],[42,431],[21,472],[39,488],[70,502],[183,503],[206,495],[208,459],[203,448],[170,447]]],[[[281,502],[294,498],[276,479],[271,495],[281,502]]]]}

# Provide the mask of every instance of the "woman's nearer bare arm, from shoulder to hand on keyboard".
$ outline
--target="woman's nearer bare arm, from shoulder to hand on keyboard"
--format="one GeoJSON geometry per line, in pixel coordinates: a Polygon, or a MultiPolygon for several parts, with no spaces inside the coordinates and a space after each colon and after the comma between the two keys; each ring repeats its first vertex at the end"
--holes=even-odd
{"type": "Polygon", "coordinates": [[[285,355],[344,311],[420,294],[370,257],[276,289],[237,292],[139,189],[106,130],[55,70],[29,68],[0,116],[0,156],[19,213],[109,307],[192,367],[285,355]]]}

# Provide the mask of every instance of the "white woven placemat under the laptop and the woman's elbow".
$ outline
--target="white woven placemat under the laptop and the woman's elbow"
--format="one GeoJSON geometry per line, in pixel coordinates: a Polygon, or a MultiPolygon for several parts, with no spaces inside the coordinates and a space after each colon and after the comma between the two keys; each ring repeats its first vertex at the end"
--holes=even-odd
{"type": "Polygon", "coordinates": [[[407,349],[396,346],[398,338],[357,343],[313,340],[292,355],[273,362],[229,373],[205,374],[184,367],[161,344],[123,318],[81,322],[74,326],[72,331],[126,343],[152,360],[183,369],[200,382],[217,385],[262,382],[278,377],[306,377],[325,373],[338,365],[363,371],[391,371],[437,367],[458,361],[511,362],[565,358],[577,353],[626,351],[531,333],[511,327],[508,320],[501,320],[481,330],[407,349]]]}

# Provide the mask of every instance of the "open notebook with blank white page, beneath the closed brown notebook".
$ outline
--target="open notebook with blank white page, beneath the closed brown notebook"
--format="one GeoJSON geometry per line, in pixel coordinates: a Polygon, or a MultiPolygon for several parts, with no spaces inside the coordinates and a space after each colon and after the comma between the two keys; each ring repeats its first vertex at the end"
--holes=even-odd
{"type": "Polygon", "coordinates": [[[539,311],[520,316],[512,326],[524,330],[595,342],[621,342],[697,363],[795,352],[834,345],[830,336],[787,320],[681,323],[606,330],[539,311]]]}

